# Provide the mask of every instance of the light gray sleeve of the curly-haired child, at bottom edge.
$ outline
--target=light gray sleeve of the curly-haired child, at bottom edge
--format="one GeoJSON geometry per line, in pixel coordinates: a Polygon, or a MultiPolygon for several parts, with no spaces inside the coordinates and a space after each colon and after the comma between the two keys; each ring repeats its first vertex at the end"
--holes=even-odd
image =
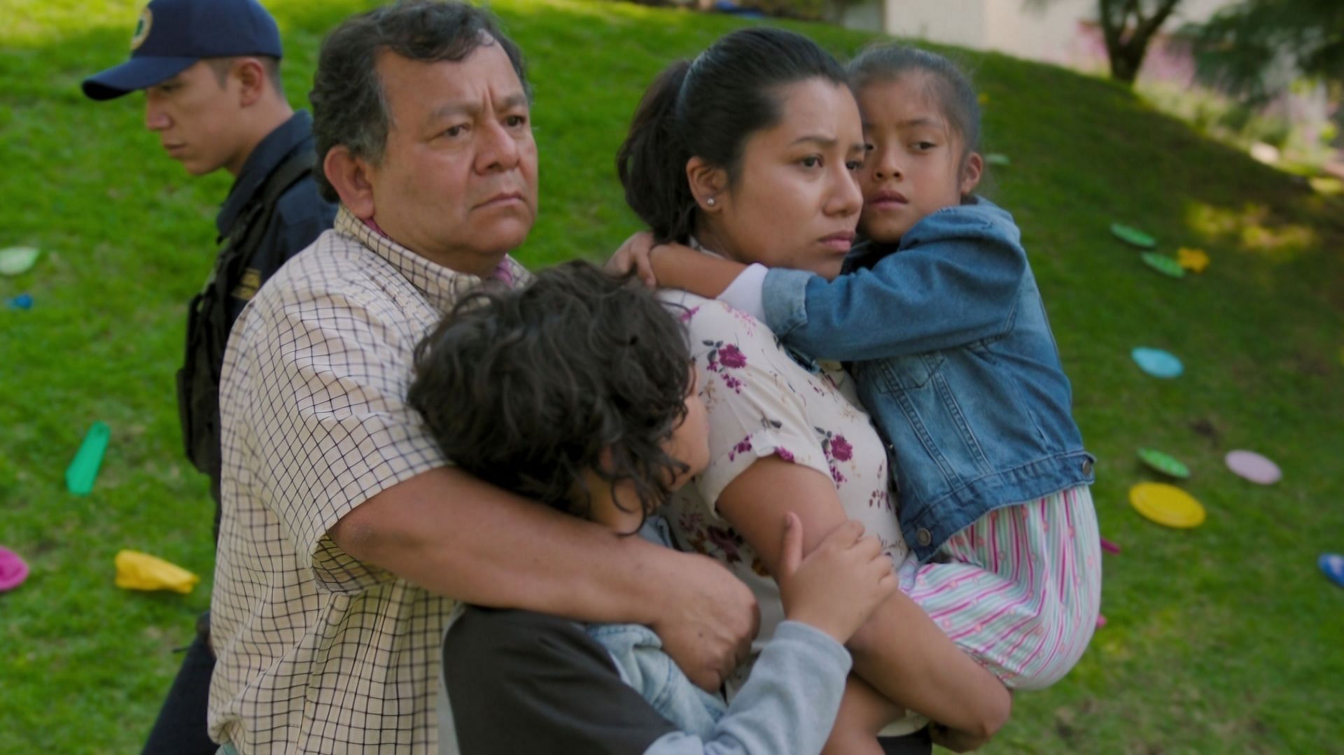
{"type": "Polygon", "coordinates": [[[644,755],[817,755],[831,736],[849,652],[824,631],[786,621],[708,740],[669,732],[644,755]]]}

